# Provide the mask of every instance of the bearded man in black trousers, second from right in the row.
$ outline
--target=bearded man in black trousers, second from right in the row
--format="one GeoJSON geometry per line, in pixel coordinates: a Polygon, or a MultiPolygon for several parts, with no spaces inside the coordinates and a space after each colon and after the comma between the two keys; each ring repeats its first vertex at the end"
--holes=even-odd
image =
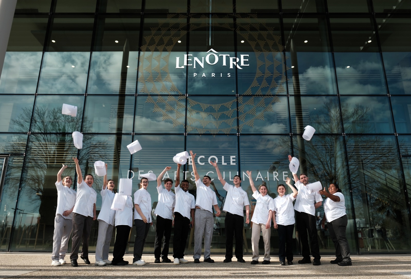
{"type": "MultiPolygon", "coordinates": [[[[291,162],[291,155],[288,159],[291,162]]],[[[294,186],[298,190],[294,210],[296,214],[296,230],[301,241],[302,246],[302,260],[298,263],[311,263],[310,246],[308,244],[308,237],[311,244],[311,254],[314,257],[313,265],[321,265],[320,247],[317,238],[317,227],[315,210],[319,208],[323,202],[323,198],[318,192],[311,192],[307,188],[308,176],[305,173],[300,173],[300,176],[293,173],[294,186]],[[307,233],[308,231],[308,233],[307,233]]]]}

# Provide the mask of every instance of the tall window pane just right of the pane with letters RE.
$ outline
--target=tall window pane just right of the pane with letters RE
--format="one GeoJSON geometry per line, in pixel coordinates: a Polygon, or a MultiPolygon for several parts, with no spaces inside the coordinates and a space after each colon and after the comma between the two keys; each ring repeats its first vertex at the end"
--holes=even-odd
{"type": "Polygon", "coordinates": [[[284,37],[289,94],[336,94],[326,19],[284,18],[284,37]]]}

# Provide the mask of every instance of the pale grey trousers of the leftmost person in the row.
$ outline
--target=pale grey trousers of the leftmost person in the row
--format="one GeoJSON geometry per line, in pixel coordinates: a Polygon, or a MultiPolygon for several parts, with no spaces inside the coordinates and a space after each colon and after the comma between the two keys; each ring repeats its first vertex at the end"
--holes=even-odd
{"type": "Polygon", "coordinates": [[[66,256],[69,238],[73,230],[73,220],[65,219],[60,214],[54,218],[53,254],[51,259],[58,261],[66,256]]]}

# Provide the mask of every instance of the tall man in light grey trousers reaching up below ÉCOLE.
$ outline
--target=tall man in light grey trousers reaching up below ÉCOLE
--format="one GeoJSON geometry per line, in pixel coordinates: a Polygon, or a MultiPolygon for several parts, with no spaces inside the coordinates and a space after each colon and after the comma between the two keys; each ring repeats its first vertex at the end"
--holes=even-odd
{"type": "Polygon", "coordinates": [[[196,198],[196,211],[194,227],[194,263],[200,263],[201,257],[201,244],[203,243],[204,235],[204,261],[206,263],[214,263],[214,260],[210,258],[212,229],[214,227],[214,217],[212,215],[212,208],[214,207],[216,213],[215,216],[220,216],[221,212],[217,204],[217,196],[215,192],[210,189],[211,178],[208,175],[204,175],[201,182],[197,167],[195,164],[196,154],[190,150],[193,173],[196,179],[197,186],[197,198],[196,198]]]}

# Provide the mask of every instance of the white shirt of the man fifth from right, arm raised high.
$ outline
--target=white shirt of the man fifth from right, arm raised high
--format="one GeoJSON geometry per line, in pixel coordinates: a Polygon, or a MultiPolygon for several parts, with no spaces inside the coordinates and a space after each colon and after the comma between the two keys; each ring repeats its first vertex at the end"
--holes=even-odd
{"type": "Polygon", "coordinates": [[[244,216],[244,206],[250,205],[246,191],[241,187],[235,187],[227,182],[223,189],[227,191],[223,211],[244,216]]]}

